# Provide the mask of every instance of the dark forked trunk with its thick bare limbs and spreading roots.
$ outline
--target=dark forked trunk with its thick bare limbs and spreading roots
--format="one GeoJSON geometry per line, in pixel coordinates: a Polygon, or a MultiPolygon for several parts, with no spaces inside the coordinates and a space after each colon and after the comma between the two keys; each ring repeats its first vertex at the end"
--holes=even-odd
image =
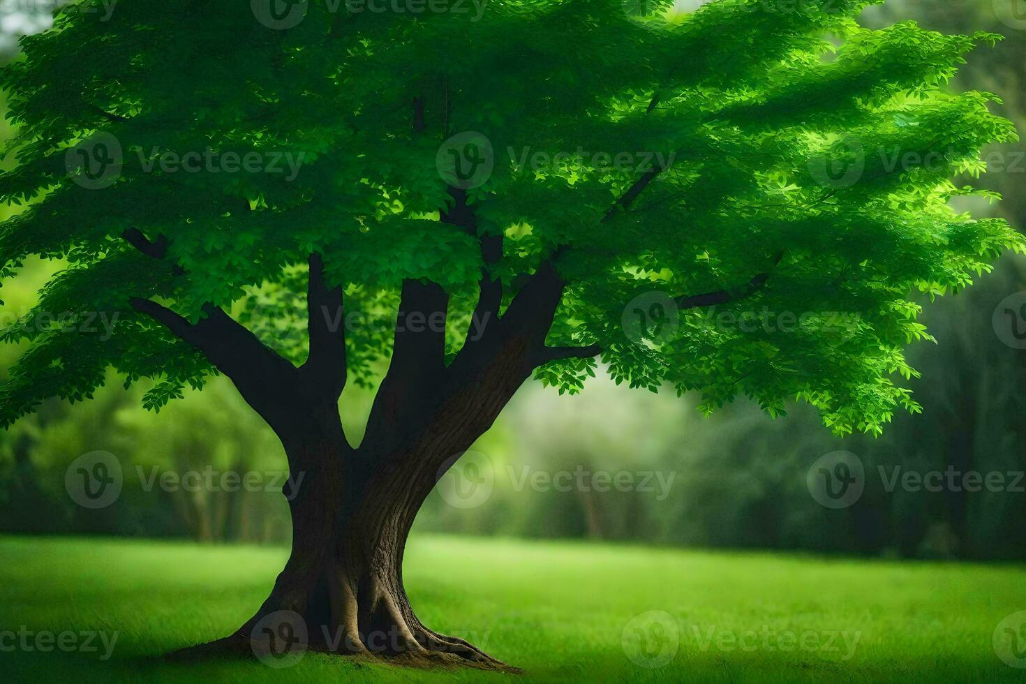
{"type": "MultiPolygon", "coordinates": [[[[458,202],[457,207],[465,205],[458,202]]],[[[453,210],[443,218],[452,223],[466,217],[453,210]]],[[[353,449],[337,403],[345,365],[331,361],[344,354],[342,338],[319,327],[318,307],[341,306],[342,292],[323,288],[320,268],[319,257],[312,256],[311,350],[299,369],[281,359],[268,360],[267,351],[259,348],[250,361],[264,372],[254,375],[245,363],[235,363],[233,350],[221,347],[232,336],[241,344],[249,333],[216,311],[207,324],[225,328],[211,329],[218,333],[210,345],[219,368],[236,371],[229,373],[233,381],[281,438],[293,481],[300,482],[301,474],[302,481],[298,491],[286,492],[292,550],[270,596],[231,636],[180,654],[274,652],[280,635],[288,643],[303,637],[301,645],[316,650],[374,653],[418,665],[507,669],[476,646],[437,634],[418,619],[402,584],[406,537],[437,480],[491,426],[537,366],[597,352],[545,347],[563,288],[551,264],[529,278],[501,320],[501,286],[485,273],[476,315],[485,322],[495,317],[487,333],[468,337],[446,364],[443,329],[397,328],[366,434],[353,449]]],[[[405,281],[400,316],[445,312],[447,300],[437,285],[405,281]]]]}

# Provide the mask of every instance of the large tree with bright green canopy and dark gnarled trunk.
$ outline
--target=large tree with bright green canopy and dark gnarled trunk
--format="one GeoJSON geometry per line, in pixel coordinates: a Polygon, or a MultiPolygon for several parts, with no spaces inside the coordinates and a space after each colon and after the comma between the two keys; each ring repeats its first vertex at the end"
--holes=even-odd
{"type": "Polygon", "coordinates": [[[0,190],[34,203],[0,275],[64,257],[30,316],[71,314],[4,335],[31,347],[3,417],[109,367],[157,378],[155,409],[221,372],[305,474],[289,561],[214,647],[290,611],[319,647],[495,665],[420,622],[402,550],[532,374],[574,393],[601,354],[618,383],[797,397],[838,434],[917,408],[911,293],[1022,246],[948,206],[1015,135],[942,87],[996,36],[866,30],[864,0],[668,4],[124,0],[24,39],[0,190]],[[383,359],[351,446],[339,397],[383,359]]]}

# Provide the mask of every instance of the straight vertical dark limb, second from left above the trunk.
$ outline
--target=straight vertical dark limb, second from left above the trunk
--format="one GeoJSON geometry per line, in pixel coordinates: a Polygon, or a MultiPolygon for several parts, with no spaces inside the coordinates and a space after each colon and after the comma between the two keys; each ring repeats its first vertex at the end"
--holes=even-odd
{"type": "Polygon", "coordinates": [[[342,287],[324,281],[324,259],[313,253],[308,259],[307,330],[310,354],[300,368],[305,376],[323,383],[342,394],[346,386],[346,325],[342,287]]]}

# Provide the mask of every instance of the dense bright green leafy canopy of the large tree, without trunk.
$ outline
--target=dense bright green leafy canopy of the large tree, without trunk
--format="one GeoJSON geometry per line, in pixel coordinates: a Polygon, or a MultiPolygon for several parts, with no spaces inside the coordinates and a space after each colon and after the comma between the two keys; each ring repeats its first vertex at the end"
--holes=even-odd
{"type": "MultiPolygon", "coordinates": [[[[317,251],[347,308],[372,320],[394,316],[403,279],[442,285],[461,323],[450,351],[482,268],[508,303],[553,259],[568,285],[550,344],[600,345],[618,383],[698,390],[704,410],[744,394],[780,413],[798,398],[838,433],[878,433],[917,408],[895,381],[915,373],[903,348],[930,338],[913,294],[957,291],[1023,246],[948,203],[974,192],[949,178],[981,172],[981,147],[1016,135],[989,113],[993,95],[944,88],[995,35],[871,31],[856,21],[865,0],[716,0],[682,16],[622,0],[393,4],[406,11],[314,2],[273,30],[250,3],[122,0],[106,21],[79,3],[24,40],[0,77],[21,126],[0,199],[31,206],[0,229],[0,276],[64,258],[37,311],[120,317],[105,340],[23,327],[6,423],[47,396],[88,397],[108,367],[159,378],[154,408],[203,385],[209,362],[129,297],[192,321],[235,305],[302,359],[302,325],[282,321],[303,314],[294,295],[317,251]],[[439,148],[464,131],[495,151],[468,192],[478,235],[439,220],[452,202],[439,148]],[[123,150],[100,189],[68,162],[97,133],[123,150]],[[255,153],[261,168],[161,162],[207,151],[255,153]],[[163,236],[168,258],[129,246],[131,227],[163,236]],[[487,267],[485,235],[506,242],[487,267]],[[675,330],[632,338],[625,306],[653,291],[681,305],[675,330]],[[690,305],[717,291],[732,296],[690,305]]],[[[370,376],[389,332],[347,336],[351,374],[370,376]]],[[[576,392],[594,367],[569,359],[539,376],[576,392]]]]}

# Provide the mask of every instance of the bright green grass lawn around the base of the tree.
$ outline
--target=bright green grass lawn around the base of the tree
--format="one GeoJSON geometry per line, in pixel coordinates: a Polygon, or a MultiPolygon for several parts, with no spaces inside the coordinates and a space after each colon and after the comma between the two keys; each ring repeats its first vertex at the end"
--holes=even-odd
{"type": "Polygon", "coordinates": [[[991,646],[1001,618],[1026,610],[1022,567],[426,535],[410,542],[405,565],[421,618],[523,668],[522,677],[317,653],[287,670],[155,658],[236,628],[284,558],[281,550],[248,547],[0,538],[0,631],[118,633],[106,661],[100,653],[0,652],[0,680],[1023,681],[1024,672],[991,646]],[[670,613],[679,632],[675,657],[661,668],[628,657],[638,652],[633,630],[623,644],[628,622],[649,610],[670,613]],[[746,632],[756,635],[747,649],[717,646],[746,632]],[[765,632],[810,633],[810,648],[832,633],[858,642],[850,657],[840,637],[836,650],[771,650],[765,632]]]}

